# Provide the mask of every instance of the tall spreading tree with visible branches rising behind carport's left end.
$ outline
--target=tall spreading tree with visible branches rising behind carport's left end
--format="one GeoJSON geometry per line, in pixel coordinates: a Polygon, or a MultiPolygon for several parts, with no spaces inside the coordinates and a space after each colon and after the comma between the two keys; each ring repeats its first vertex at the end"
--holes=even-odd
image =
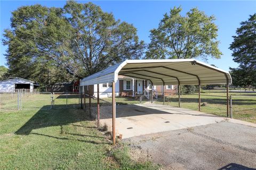
{"type": "Polygon", "coordinates": [[[86,76],[141,57],[145,45],[132,24],[115,20],[113,14],[93,3],[69,1],[64,9],[73,28],[68,60],[74,63],[74,71],[83,71],[86,76]]]}

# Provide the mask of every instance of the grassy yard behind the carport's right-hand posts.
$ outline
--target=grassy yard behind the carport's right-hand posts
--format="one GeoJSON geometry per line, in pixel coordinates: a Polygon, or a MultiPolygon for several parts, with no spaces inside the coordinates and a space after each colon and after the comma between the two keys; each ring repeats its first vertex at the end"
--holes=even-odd
{"type": "MultiPolygon", "coordinates": [[[[230,92],[233,99],[233,118],[256,123],[256,92],[230,92]]],[[[159,99],[155,103],[163,104],[159,99]]],[[[201,111],[219,116],[227,116],[225,90],[203,90],[201,111]]],[[[178,96],[166,97],[165,105],[178,107],[178,96]],[[169,101],[169,102],[168,102],[169,101]]],[[[181,95],[181,107],[198,110],[198,94],[181,95]]]]}

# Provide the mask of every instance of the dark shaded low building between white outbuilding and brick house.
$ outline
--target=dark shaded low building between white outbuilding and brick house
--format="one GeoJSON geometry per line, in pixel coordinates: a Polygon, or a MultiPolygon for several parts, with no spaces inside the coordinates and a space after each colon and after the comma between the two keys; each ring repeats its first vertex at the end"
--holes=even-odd
{"type": "Polygon", "coordinates": [[[79,81],[61,82],[50,85],[47,91],[51,92],[79,92],[79,81]]]}

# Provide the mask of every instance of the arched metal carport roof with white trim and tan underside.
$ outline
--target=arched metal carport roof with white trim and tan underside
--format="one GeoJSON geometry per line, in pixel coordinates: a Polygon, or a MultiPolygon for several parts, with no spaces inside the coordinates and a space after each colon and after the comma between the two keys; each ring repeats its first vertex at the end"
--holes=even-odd
{"type": "Polygon", "coordinates": [[[209,64],[194,59],[175,60],[126,60],[108,67],[81,80],[81,86],[116,82],[118,75],[125,75],[163,84],[227,84],[230,74],[209,64]]]}

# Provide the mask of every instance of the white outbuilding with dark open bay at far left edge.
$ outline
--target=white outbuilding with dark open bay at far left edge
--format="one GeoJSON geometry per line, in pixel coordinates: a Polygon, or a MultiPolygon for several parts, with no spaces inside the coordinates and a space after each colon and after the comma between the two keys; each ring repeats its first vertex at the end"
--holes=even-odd
{"type": "Polygon", "coordinates": [[[18,89],[27,89],[33,92],[37,87],[39,87],[39,84],[36,82],[22,78],[10,78],[9,80],[0,81],[0,92],[15,92],[18,89]]]}

